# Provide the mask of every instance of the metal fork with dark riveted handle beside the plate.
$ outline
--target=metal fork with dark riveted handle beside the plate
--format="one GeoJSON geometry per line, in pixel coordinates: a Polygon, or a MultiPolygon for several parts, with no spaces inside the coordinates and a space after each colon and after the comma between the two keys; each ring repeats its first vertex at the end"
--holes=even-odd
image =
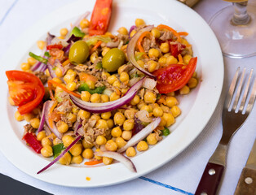
{"type": "Polygon", "coordinates": [[[251,69],[248,81],[246,85],[243,85],[245,80],[245,68],[241,74],[239,84],[238,78],[240,74],[240,67],[236,70],[223,105],[223,136],[219,141],[214,154],[210,157],[210,160],[205,167],[205,171],[201,176],[195,195],[214,195],[217,193],[218,184],[222,179],[226,165],[227,145],[236,131],[245,123],[245,120],[254,106],[256,80],[254,80],[254,86],[252,87],[249,96],[249,86],[252,85],[251,80],[253,80],[253,71],[254,70],[251,69]],[[236,95],[234,96],[235,93],[236,95]],[[249,99],[249,102],[247,106],[245,106],[247,99],[249,99]]]}

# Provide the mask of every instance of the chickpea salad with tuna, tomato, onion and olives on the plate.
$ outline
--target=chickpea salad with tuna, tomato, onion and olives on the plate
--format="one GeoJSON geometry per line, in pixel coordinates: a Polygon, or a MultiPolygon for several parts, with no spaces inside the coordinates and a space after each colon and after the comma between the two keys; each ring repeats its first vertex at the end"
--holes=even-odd
{"type": "Polygon", "coordinates": [[[38,41],[22,71],[7,71],[23,140],[56,162],[93,166],[114,160],[136,171],[131,158],[170,134],[181,114],[176,95],[196,88],[196,60],[188,32],[142,19],[108,32],[112,0],[95,3],[60,37],[38,41]]]}

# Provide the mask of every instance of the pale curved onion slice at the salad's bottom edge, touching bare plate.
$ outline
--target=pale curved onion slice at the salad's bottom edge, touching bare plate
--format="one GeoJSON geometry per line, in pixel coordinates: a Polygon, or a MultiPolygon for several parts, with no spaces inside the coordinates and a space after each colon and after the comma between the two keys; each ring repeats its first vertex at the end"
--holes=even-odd
{"type": "Polygon", "coordinates": [[[119,161],[120,163],[124,164],[130,171],[137,172],[135,164],[132,163],[130,158],[127,158],[122,154],[119,154],[117,152],[108,152],[108,151],[102,152],[102,151],[99,151],[99,152],[96,152],[95,155],[96,156],[113,158],[113,159],[119,161]]]}

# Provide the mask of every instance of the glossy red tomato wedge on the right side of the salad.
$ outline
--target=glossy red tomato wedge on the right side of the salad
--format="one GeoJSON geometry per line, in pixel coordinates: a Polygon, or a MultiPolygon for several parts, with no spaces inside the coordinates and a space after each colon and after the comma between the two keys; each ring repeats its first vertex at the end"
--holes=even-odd
{"type": "Polygon", "coordinates": [[[170,93],[186,85],[196,70],[196,62],[197,58],[192,58],[188,65],[170,64],[153,72],[159,93],[170,93]]]}

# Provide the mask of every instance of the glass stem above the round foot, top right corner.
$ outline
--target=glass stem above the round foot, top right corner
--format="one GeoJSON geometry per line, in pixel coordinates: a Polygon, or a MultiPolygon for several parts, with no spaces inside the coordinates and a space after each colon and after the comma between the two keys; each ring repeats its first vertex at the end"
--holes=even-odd
{"type": "Polygon", "coordinates": [[[247,13],[247,2],[233,2],[235,9],[234,15],[232,17],[233,25],[245,25],[250,21],[250,16],[247,13]]]}

